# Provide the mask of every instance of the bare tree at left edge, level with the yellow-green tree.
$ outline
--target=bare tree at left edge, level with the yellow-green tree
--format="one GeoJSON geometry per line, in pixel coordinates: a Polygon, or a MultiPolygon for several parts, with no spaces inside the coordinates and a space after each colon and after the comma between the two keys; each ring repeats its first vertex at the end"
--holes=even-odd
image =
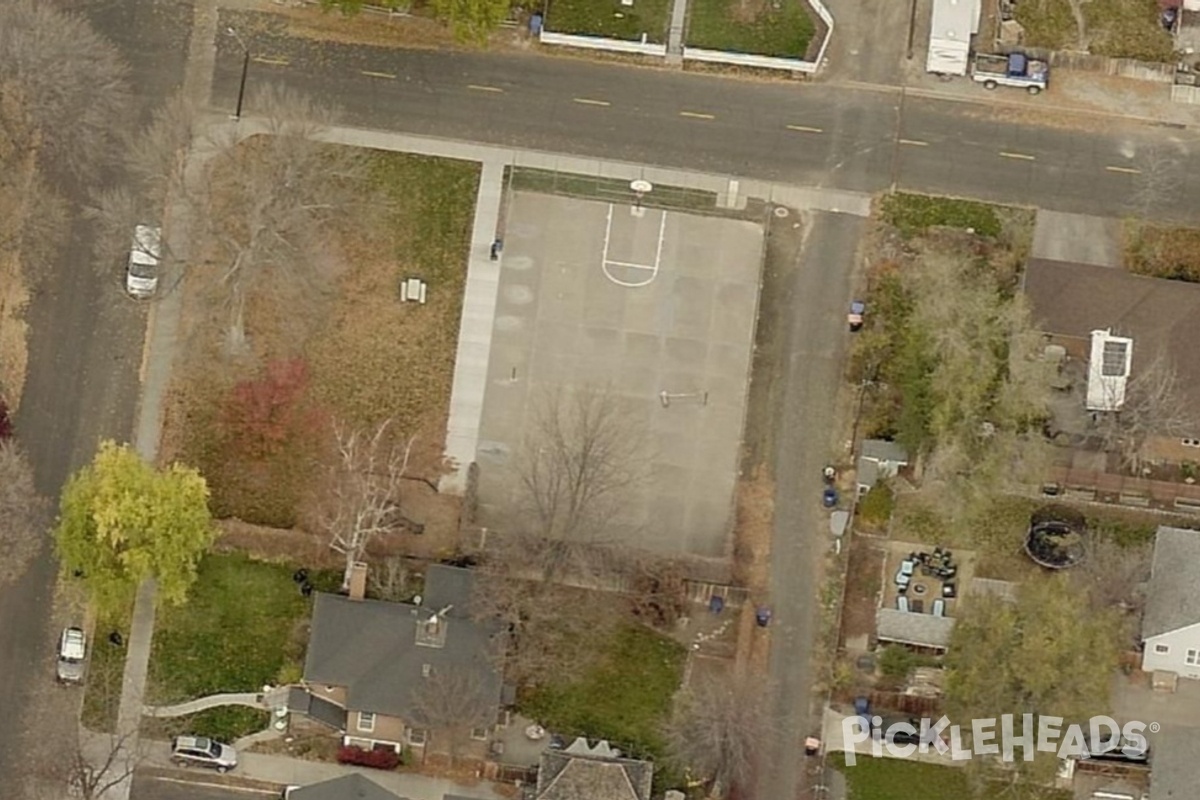
{"type": "Polygon", "coordinates": [[[47,504],[34,487],[34,468],[12,439],[0,440],[0,577],[12,579],[37,558],[47,504]]]}

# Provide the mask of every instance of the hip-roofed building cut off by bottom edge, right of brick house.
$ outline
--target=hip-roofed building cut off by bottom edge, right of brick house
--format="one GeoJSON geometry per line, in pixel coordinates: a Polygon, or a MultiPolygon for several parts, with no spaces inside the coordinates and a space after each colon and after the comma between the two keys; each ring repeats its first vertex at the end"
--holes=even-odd
{"type": "Polygon", "coordinates": [[[650,800],[653,780],[650,762],[625,758],[606,741],[576,739],[542,753],[534,800],[650,800]]]}

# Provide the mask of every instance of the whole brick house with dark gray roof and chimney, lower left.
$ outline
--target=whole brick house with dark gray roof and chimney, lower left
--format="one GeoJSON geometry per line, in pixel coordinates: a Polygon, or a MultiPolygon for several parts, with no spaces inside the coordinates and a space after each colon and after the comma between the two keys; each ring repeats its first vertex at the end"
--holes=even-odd
{"type": "Polygon", "coordinates": [[[503,699],[497,667],[503,626],[470,615],[473,576],[444,565],[425,573],[420,604],[366,600],[365,579],[349,596],[318,594],[304,667],[305,712],[342,733],[342,742],[421,758],[486,752],[503,699]]]}

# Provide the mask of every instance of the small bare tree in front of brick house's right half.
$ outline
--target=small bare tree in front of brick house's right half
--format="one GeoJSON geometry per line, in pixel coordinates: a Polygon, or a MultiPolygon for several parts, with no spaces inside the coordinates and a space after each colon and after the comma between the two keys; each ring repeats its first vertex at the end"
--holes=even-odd
{"type": "Polygon", "coordinates": [[[473,732],[496,722],[499,694],[490,688],[478,668],[434,668],[413,686],[413,722],[431,732],[436,746],[444,741],[454,759],[473,732]]]}

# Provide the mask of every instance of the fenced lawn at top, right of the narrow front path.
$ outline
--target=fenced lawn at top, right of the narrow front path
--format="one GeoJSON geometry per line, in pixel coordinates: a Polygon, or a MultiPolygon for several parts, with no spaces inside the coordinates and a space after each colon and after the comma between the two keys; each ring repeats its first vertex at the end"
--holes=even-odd
{"type": "Polygon", "coordinates": [[[805,0],[689,0],[688,47],[803,59],[816,34],[805,0]]]}

